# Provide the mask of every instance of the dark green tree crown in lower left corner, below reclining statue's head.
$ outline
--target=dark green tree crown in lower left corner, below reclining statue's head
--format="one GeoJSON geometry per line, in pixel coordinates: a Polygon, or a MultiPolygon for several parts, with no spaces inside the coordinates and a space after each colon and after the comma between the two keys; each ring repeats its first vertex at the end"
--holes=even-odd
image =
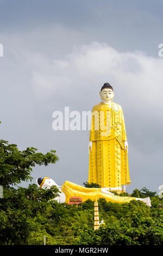
{"type": "Polygon", "coordinates": [[[51,216],[49,200],[58,196],[53,186],[42,190],[35,184],[28,188],[4,188],[0,200],[0,244],[22,245],[31,232],[41,230],[51,216]]]}

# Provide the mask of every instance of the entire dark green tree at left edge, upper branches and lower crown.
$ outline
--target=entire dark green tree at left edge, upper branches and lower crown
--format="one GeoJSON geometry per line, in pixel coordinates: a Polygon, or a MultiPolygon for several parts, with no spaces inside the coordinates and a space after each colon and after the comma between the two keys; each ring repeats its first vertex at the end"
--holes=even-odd
{"type": "Polygon", "coordinates": [[[50,190],[42,190],[35,184],[28,188],[18,187],[17,190],[12,187],[21,181],[31,181],[30,174],[36,164],[47,166],[58,161],[55,150],[47,154],[36,151],[33,147],[20,151],[16,144],[0,141],[0,185],[3,186],[3,198],[0,199],[1,245],[26,243],[30,233],[38,229],[41,222],[48,221],[51,209],[48,202],[59,195],[56,186],[50,190]]]}

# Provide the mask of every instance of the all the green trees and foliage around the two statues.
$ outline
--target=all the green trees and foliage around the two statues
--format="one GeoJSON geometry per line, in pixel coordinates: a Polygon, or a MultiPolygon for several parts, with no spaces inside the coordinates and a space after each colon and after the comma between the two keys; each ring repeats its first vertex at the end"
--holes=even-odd
{"type": "MultiPolygon", "coordinates": [[[[35,164],[55,163],[55,151],[43,155],[36,149],[19,151],[15,144],[0,143],[0,177],[3,198],[0,198],[0,245],[162,245],[163,199],[142,188],[131,196],[151,197],[152,207],[131,200],[117,204],[98,200],[99,218],[104,220],[93,231],[94,202],[78,205],[55,201],[59,190],[53,186],[42,190],[35,184],[28,188],[13,185],[31,179],[35,164]]],[[[95,184],[93,185],[95,186],[95,184]]],[[[130,196],[124,192],[120,196],[130,196]]]]}

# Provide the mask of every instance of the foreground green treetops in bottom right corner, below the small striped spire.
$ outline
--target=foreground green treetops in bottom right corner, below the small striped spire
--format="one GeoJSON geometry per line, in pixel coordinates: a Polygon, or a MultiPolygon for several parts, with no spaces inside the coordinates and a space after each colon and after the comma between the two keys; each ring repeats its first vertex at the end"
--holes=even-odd
{"type": "Polygon", "coordinates": [[[162,245],[162,220],[133,214],[131,223],[122,218],[120,222],[100,226],[98,230],[80,230],[78,245],[162,245]],[[136,221],[137,224],[136,224],[136,221]]]}

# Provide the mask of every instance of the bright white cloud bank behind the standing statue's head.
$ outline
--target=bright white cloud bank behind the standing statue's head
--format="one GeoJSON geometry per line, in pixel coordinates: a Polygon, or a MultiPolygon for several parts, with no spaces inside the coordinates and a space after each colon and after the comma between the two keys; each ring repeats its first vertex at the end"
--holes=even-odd
{"type": "Polygon", "coordinates": [[[138,51],[121,53],[98,42],[76,47],[61,59],[41,53],[29,56],[25,56],[24,62],[28,59],[33,86],[43,94],[60,93],[59,88],[68,93],[68,90],[80,90],[80,86],[84,92],[96,94],[96,89],[107,81],[115,87],[117,95],[130,93],[134,102],[143,101],[154,106],[162,99],[163,58],[160,57],[138,51]]]}

